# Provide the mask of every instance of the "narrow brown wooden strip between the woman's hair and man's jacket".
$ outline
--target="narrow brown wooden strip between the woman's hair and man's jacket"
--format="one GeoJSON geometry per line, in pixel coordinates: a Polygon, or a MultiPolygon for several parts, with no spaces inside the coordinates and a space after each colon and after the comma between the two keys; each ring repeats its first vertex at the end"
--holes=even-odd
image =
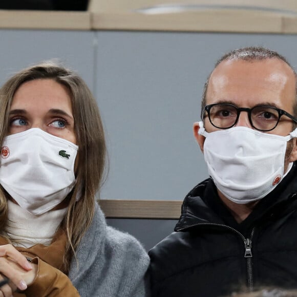
{"type": "Polygon", "coordinates": [[[182,201],[99,200],[107,218],[179,219],[182,201]]]}

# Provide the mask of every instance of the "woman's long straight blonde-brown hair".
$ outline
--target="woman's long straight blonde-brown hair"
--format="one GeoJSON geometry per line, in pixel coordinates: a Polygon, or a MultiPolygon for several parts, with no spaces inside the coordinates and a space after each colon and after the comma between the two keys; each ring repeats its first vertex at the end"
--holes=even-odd
{"type": "MultiPolygon", "coordinates": [[[[104,176],[106,146],[100,113],[87,84],[72,70],[54,62],[44,62],[12,76],[0,89],[0,143],[9,128],[9,111],[16,90],[26,81],[53,79],[65,86],[72,100],[75,133],[79,147],[76,163],[76,185],[68,213],[61,227],[67,232],[65,268],[69,268],[75,250],[94,217],[95,194],[104,176]],[[79,195],[80,199],[76,199],[79,195]]],[[[0,188],[0,230],[7,220],[7,198],[0,188]]]]}

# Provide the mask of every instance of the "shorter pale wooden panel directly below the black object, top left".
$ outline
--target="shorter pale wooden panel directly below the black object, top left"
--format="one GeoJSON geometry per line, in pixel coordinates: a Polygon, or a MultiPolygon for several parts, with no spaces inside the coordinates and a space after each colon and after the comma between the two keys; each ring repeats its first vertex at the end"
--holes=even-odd
{"type": "Polygon", "coordinates": [[[90,30],[89,12],[0,10],[0,28],[90,30]]]}

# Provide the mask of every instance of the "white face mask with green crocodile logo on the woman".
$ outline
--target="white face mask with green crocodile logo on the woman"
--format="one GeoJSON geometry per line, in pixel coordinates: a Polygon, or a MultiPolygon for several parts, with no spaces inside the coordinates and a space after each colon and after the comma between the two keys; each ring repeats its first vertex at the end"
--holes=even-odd
{"type": "Polygon", "coordinates": [[[0,183],[33,215],[54,208],[75,185],[78,146],[32,128],[4,139],[0,154],[0,183]]]}

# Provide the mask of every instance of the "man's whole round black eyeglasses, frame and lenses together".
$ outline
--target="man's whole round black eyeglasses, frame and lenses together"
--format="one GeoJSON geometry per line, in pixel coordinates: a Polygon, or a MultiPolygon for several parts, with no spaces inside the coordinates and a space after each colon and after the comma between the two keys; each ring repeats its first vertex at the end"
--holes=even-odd
{"type": "Polygon", "coordinates": [[[273,130],[279,123],[282,115],[287,116],[297,123],[297,118],[286,111],[275,107],[260,105],[253,108],[238,108],[229,103],[209,104],[204,107],[204,116],[207,112],[210,123],[219,129],[228,129],[234,126],[242,111],[247,112],[251,126],[259,131],[267,132],[273,130]]]}

